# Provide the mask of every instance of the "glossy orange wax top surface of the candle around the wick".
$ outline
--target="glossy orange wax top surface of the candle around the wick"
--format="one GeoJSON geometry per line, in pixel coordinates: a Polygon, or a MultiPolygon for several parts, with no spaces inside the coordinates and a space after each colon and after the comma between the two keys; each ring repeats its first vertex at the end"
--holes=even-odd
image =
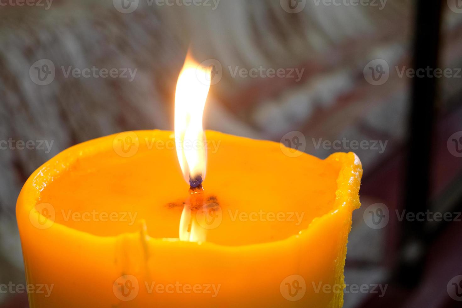
{"type": "MultiPolygon", "coordinates": [[[[279,143],[206,134],[207,178],[202,184],[206,211],[213,209],[203,220],[207,242],[239,246],[284,240],[338,206],[338,158],[290,157],[279,143]]],[[[359,188],[362,169],[356,158],[359,168],[349,172],[358,178],[359,188]]],[[[52,205],[54,223],[96,236],[137,232],[143,221],[152,238],[177,238],[189,188],[173,133],[158,130],[75,145],[28,181],[34,187],[29,197],[52,205]]]]}

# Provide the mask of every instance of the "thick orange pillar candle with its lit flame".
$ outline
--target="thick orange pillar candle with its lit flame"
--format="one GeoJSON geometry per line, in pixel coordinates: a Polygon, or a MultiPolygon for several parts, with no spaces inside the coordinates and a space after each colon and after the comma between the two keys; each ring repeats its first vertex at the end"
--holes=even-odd
{"type": "Polygon", "coordinates": [[[341,307],[358,157],[204,136],[183,107],[175,133],[90,140],[30,175],[16,209],[26,279],[50,290],[30,307],[341,307]]]}

